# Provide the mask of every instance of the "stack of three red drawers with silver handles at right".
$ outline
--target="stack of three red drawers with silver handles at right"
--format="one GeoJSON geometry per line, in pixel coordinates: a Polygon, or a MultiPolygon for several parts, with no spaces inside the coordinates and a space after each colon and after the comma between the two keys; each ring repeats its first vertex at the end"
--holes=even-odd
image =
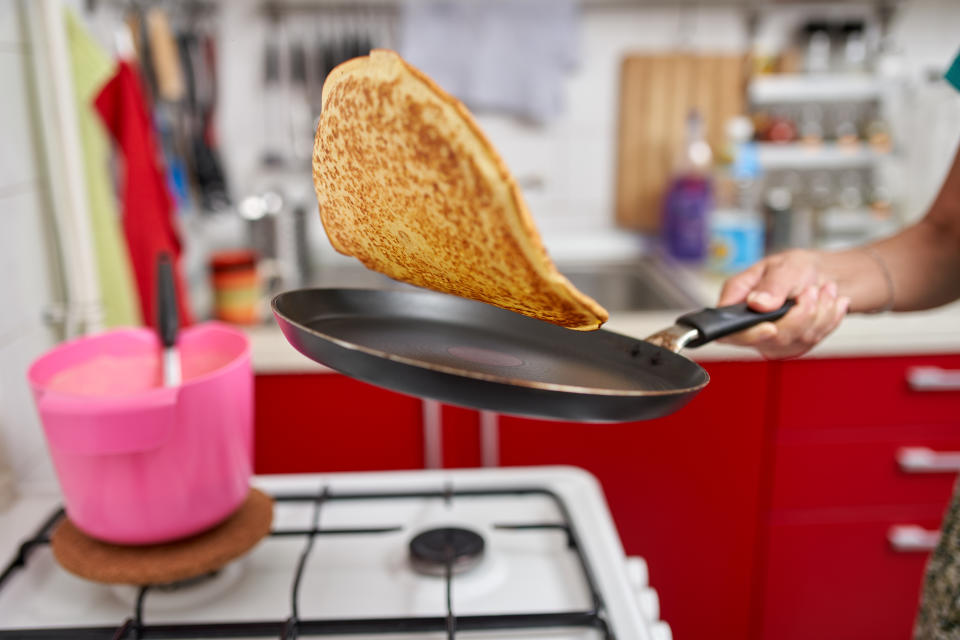
{"type": "Polygon", "coordinates": [[[902,454],[960,451],[956,369],[957,355],[769,365],[775,444],[754,637],[910,637],[928,551],[891,535],[936,531],[956,473],[917,472],[902,454]],[[936,368],[932,385],[917,367],[936,368]]]}

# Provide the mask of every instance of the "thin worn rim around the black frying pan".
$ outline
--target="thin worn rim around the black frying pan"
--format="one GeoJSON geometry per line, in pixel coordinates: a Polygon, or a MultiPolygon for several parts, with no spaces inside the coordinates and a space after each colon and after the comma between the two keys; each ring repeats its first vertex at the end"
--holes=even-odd
{"type": "MultiPolygon", "coordinates": [[[[482,372],[479,372],[479,371],[470,371],[470,370],[467,370],[467,369],[460,369],[460,368],[457,368],[457,367],[451,367],[451,366],[447,366],[447,365],[435,364],[435,363],[432,363],[432,362],[425,362],[425,361],[423,361],[423,360],[418,360],[418,359],[416,359],[416,358],[410,358],[410,357],[407,357],[407,356],[400,356],[400,355],[397,355],[397,354],[388,353],[388,352],[386,352],[386,351],[381,351],[381,350],[379,350],[379,349],[373,349],[373,348],[371,348],[371,347],[366,347],[366,346],[364,346],[364,345],[356,344],[356,343],[353,343],[353,342],[347,342],[347,341],[345,341],[345,340],[343,340],[343,339],[341,339],[341,338],[336,338],[336,337],[331,336],[331,335],[329,335],[329,334],[323,333],[322,331],[317,331],[316,329],[313,329],[313,328],[311,328],[311,327],[308,327],[308,326],[306,326],[305,324],[303,324],[303,323],[301,323],[301,322],[297,322],[296,320],[292,319],[290,316],[288,316],[288,315],[286,315],[286,314],[284,314],[283,312],[280,311],[280,309],[278,308],[278,305],[277,305],[277,301],[278,301],[281,297],[283,297],[284,295],[287,295],[287,294],[292,294],[292,293],[295,293],[295,292],[305,292],[305,291],[340,291],[340,292],[352,292],[352,291],[368,291],[368,292],[369,292],[369,291],[378,291],[378,292],[390,293],[390,294],[401,293],[401,294],[404,294],[404,295],[408,294],[408,292],[389,291],[389,290],[385,290],[385,289],[338,288],[338,287],[332,287],[332,288],[327,288],[327,287],[309,287],[309,288],[304,288],[304,289],[291,289],[290,291],[284,291],[284,292],[278,293],[276,296],[274,296],[273,300],[270,301],[270,307],[271,307],[271,309],[273,310],[274,315],[277,316],[277,317],[279,317],[279,318],[282,318],[285,322],[287,322],[287,323],[289,323],[289,324],[291,324],[291,325],[296,326],[296,327],[297,327],[299,330],[301,330],[301,331],[304,331],[304,332],[306,332],[306,333],[312,334],[312,335],[316,336],[317,338],[320,338],[320,339],[322,339],[322,340],[325,340],[325,341],[327,341],[327,342],[330,342],[330,343],[332,343],[332,344],[334,344],[334,345],[336,345],[336,346],[338,346],[338,347],[340,347],[340,348],[342,348],[342,349],[347,349],[347,350],[350,350],[350,351],[358,351],[358,352],[360,352],[360,353],[364,353],[364,354],[366,354],[366,355],[369,355],[369,356],[372,356],[372,357],[375,357],[375,358],[379,358],[379,359],[382,359],[382,360],[389,360],[389,361],[391,361],[391,362],[397,362],[397,363],[399,363],[399,364],[403,364],[403,365],[406,365],[406,366],[414,367],[414,368],[417,368],[417,369],[424,369],[424,370],[427,370],[427,371],[434,371],[434,372],[437,372],[437,373],[442,373],[442,374],[446,374],[446,375],[452,375],[452,376],[456,376],[456,377],[460,377],[460,378],[468,378],[468,379],[471,379],[471,380],[479,380],[479,381],[481,381],[481,382],[491,382],[491,383],[495,383],[495,384],[502,384],[502,385],[506,385],[506,386],[510,386],[510,387],[525,387],[525,388],[528,388],[528,389],[535,389],[535,390],[540,390],[540,391],[553,391],[553,392],[563,393],[563,394],[567,394],[567,395],[577,395],[577,394],[580,394],[580,395],[609,396],[609,397],[622,397],[622,398],[642,398],[642,397],[650,397],[650,396],[673,396],[673,395],[682,395],[682,394],[685,394],[685,393],[696,393],[696,392],[699,392],[700,390],[702,390],[702,389],[703,389],[704,387],[706,387],[708,384],[710,384],[710,374],[706,371],[706,369],[704,369],[703,367],[700,367],[700,365],[698,365],[697,363],[693,362],[692,360],[690,360],[690,359],[687,358],[686,356],[684,356],[684,355],[682,355],[682,354],[680,354],[680,353],[675,353],[675,352],[673,352],[673,351],[670,351],[669,349],[663,349],[663,347],[657,347],[657,345],[652,345],[651,343],[647,342],[646,340],[643,340],[643,339],[640,339],[640,338],[632,338],[632,337],[630,337],[630,336],[623,336],[623,334],[616,333],[616,332],[614,332],[614,331],[609,331],[609,330],[606,330],[606,329],[596,329],[596,331],[604,331],[605,333],[622,336],[622,337],[625,337],[625,338],[629,338],[629,339],[631,339],[631,340],[639,340],[639,341],[641,341],[641,342],[647,342],[647,344],[651,344],[651,346],[657,347],[658,349],[663,349],[663,350],[666,351],[667,353],[670,353],[670,354],[675,355],[675,356],[677,356],[677,357],[680,357],[680,358],[684,358],[684,359],[686,359],[686,360],[689,360],[691,364],[693,364],[693,365],[695,365],[695,366],[697,366],[697,367],[700,368],[700,371],[703,373],[703,377],[704,377],[703,383],[701,383],[701,384],[699,384],[699,385],[692,386],[692,387],[683,387],[683,388],[670,389],[670,390],[660,390],[660,391],[657,391],[657,390],[639,390],[639,389],[638,389],[638,390],[629,390],[629,389],[604,389],[604,388],[597,388],[597,387],[583,387],[583,386],[579,386],[579,385],[556,384],[556,383],[550,383],[550,382],[534,382],[534,381],[532,381],[532,380],[522,380],[522,379],[515,379],[515,378],[507,378],[507,377],[499,376],[499,375],[496,375],[496,374],[482,373],[482,372]]],[[[423,292],[417,291],[417,292],[409,292],[409,293],[410,293],[410,294],[413,294],[413,293],[417,293],[417,294],[429,293],[429,294],[435,294],[435,295],[449,295],[449,296],[452,297],[452,298],[457,298],[457,297],[458,297],[458,296],[453,296],[453,295],[451,295],[451,294],[444,294],[444,293],[439,293],[439,292],[434,292],[434,291],[429,291],[429,290],[424,290],[423,292]]],[[[468,298],[461,298],[461,299],[463,299],[463,300],[468,300],[468,298]]],[[[477,302],[479,302],[479,301],[477,301],[477,302]]],[[[481,304],[487,304],[487,303],[482,303],[482,302],[481,302],[481,304]]],[[[497,305],[491,305],[491,306],[496,307],[497,305]]],[[[502,307],[497,307],[497,308],[502,309],[502,307]]],[[[505,309],[505,311],[509,311],[509,309],[505,309]]],[[[291,346],[293,346],[293,345],[291,345],[291,346]]],[[[309,356],[307,356],[307,357],[309,357],[309,356]]],[[[311,360],[312,360],[312,359],[313,359],[313,358],[311,358],[311,360]]],[[[315,361],[315,362],[316,362],[316,361],[315,361]]],[[[318,364],[323,364],[323,363],[318,363],[318,364]]]]}

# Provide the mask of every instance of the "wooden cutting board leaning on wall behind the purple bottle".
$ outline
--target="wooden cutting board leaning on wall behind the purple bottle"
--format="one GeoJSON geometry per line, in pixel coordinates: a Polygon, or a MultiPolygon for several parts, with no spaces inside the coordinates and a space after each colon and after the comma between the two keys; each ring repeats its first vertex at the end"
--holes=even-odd
{"type": "Polygon", "coordinates": [[[630,54],[620,69],[616,219],[656,232],[661,199],[684,142],[690,109],[700,111],[714,156],[728,119],[744,113],[742,55],[630,54]]]}

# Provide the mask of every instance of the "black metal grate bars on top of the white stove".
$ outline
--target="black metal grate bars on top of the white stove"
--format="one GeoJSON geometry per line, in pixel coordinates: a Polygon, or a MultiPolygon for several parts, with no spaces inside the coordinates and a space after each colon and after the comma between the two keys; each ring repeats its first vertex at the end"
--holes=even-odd
{"type": "MultiPolygon", "coordinates": [[[[286,620],[265,620],[252,622],[223,623],[184,623],[184,624],[146,624],[143,620],[143,604],[151,589],[141,587],[132,615],[114,627],[57,627],[30,629],[0,629],[0,639],[17,640],[147,640],[147,639],[190,639],[198,638],[280,638],[295,640],[301,637],[323,637],[332,635],[383,634],[396,633],[446,633],[448,640],[456,638],[458,632],[500,631],[521,629],[547,629],[578,627],[598,630],[605,640],[616,640],[616,636],[606,621],[603,598],[597,588],[594,572],[589,560],[583,553],[570,512],[563,499],[544,488],[490,488],[455,489],[451,485],[438,491],[407,491],[395,493],[381,492],[332,492],[324,487],[316,494],[281,494],[273,496],[277,503],[312,503],[311,524],[305,529],[283,529],[270,533],[271,537],[304,537],[304,548],[291,583],[290,616],[286,620]],[[592,607],[588,611],[561,611],[555,613],[520,613],[502,615],[457,615],[453,610],[453,589],[455,572],[453,559],[446,561],[444,572],[446,615],[443,617],[398,617],[398,618],[356,618],[356,619],[302,619],[299,615],[299,590],[303,572],[310,553],[318,538],[337,535],[377,535],[401,531],[402,527],[370,528],[330,528],[320,526],[323,506],[334,501],[363,501],[390,499],[440,498],[448,504],[457,497],[490,496],[529,496],[539,495],[551,499],[560,512],[562,522],[495,524],[502,531],[530,531],[555,529],[566,534],[568,547],[575,552],[578,564],[583,571],[584,581],[589,588],[592,607]]],[[[41,525],[33,537],[24,541],[13,559],[0,573],[0,596],[3,587],[25,569],[31,553],[38,547],[50,544],[50,532],[64,517],[63,509],[56,510],[41,525]]]]}

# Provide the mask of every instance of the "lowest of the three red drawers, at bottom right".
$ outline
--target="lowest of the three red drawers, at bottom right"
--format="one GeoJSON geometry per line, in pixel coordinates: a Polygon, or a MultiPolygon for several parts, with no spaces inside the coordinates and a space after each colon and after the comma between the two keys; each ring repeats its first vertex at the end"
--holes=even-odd
{"type": "MultiPolygon", "coordinates": [[[[849,512],[848,512],[849,513],[849,512]]],[[[926,551],[898,551],[893,527],[934,530],[937,510],[858,521],[775,523],[763,583],[764,640],[911,637],[926,551]]]]}

